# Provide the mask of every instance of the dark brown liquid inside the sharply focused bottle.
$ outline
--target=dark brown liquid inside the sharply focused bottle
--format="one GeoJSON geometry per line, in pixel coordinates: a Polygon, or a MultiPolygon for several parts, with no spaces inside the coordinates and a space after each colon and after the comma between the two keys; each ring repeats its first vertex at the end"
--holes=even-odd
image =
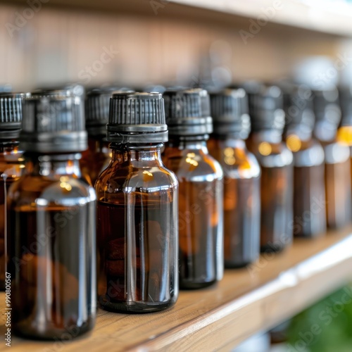
{"type": "Polygon", "coordinates": [[[98,202],[98,295],[104,309],[142,313],[175,303],[173,213],[172,203],[98,202]]]}

